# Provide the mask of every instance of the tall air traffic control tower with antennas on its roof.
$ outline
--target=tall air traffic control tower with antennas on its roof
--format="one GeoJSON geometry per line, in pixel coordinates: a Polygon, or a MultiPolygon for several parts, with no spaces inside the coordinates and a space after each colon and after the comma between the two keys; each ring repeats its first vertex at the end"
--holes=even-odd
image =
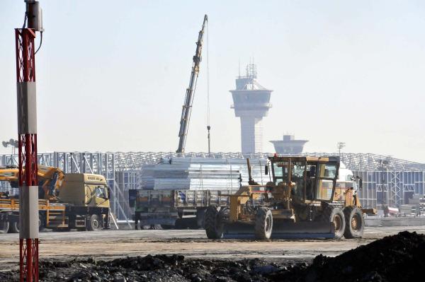
{"type": "Polygon", "coordinates": [[[263,88],[256,81],[256,65],[246,66],[246,76],[236,78],[236,89],[230,90],[233,97],[234,114],[241,118],[242,153],[263,151],[263,127],[261,119],[271,108],[272,90],[263,88]]]}

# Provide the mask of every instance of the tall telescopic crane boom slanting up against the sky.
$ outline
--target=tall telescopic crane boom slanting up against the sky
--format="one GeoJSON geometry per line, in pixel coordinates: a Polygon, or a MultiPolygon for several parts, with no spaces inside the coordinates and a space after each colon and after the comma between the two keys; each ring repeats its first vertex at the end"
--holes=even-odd
{"type": "Polygon", "coordinates": [[[207,21],[208,21],[208,16],[205,15],[203,24],[202,24],[202,29],[199,31],[198,42],[196,42],[195,56],[193,56],[191,81],[189,82],[189,87],[186,89],[186,98],[184,100],[183,109],[181,110],[179,148],[177,148],[176,153],[184,153],[184,148],[186,146],[186,137],[188,135],[189,121],[191,119],[193,97],[195,96],[196,82],[198,81],[198,75],[199,75],[199,64],[201,61],[200,54],[202,52],[203,35],[204,35],[205,25],[207,21]]]}

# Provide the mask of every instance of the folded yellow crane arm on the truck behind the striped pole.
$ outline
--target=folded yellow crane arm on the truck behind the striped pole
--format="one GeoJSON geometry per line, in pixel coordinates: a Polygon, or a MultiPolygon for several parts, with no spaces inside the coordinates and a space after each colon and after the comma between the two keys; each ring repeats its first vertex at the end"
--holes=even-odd
{"type": "MultiPolygon", "coordinates": [[[[8,181],[12,187],[18,187],[19,170],[17,167],[1,167],[0,181],[8,181]]],[[[44,192],[44,199],[57,198],[57,192],[65,178],[64,172],[59,168],[38,165],[38,186],[44,192]]]]}

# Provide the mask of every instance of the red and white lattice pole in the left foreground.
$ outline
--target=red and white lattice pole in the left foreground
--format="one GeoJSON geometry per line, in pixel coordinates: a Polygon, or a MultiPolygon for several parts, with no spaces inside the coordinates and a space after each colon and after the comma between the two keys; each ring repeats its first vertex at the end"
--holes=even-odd
{"type": "MultiPolygon", "coordinates": [[[[38,281],[38,159],[35,31],[42,30],[38,1],[26,0],[28,28],[15,29],[18,90],[19,272],[38,281]]],[[[25,27],[25,26],[24,26],[25,27]]]]}

